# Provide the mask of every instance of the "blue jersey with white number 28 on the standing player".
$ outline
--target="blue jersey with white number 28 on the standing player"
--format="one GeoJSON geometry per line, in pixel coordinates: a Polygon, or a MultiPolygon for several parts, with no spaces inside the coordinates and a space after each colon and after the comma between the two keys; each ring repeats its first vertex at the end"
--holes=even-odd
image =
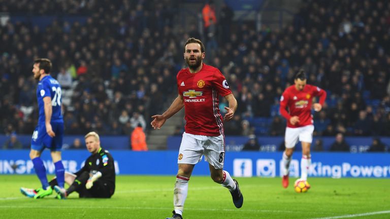
{"type": "Polygon", "coordinates": [[[38,124],[45,124],[45,108],[44,108],[44,97],[51,97],[52,114],[50,122],[62,122],[61,115],[61,86],[57,80],[53,79],[50,75],[45,76],[37,87],[37,99],[39,108],[39,119],[38,124]]]}

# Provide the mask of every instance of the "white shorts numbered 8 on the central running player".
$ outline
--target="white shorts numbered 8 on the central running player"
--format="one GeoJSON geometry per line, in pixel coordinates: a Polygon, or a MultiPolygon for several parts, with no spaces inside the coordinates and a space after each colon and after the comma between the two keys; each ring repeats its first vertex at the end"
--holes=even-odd
{"type": "Polygon", "coordinates": [[[225,142],[223,135],[205,136],[183,133],[178,164],[197,164],[205,156],[215,169],[222,169],[225,159],[225,142]]]}

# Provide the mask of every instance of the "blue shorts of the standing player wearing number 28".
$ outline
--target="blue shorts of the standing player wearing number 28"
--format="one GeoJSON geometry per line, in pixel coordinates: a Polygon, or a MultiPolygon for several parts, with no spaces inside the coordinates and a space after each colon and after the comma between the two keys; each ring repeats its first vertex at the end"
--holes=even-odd
{"type": "Polygon", "coordinates": [[[31,149],[42,152],[45,148],[50,151],[61,151],[63,140],[63,123],[51,123],[51,128],[55,133],[50,137],[46,132],[45,124],[39,124],[31,137],[31,149]]]}

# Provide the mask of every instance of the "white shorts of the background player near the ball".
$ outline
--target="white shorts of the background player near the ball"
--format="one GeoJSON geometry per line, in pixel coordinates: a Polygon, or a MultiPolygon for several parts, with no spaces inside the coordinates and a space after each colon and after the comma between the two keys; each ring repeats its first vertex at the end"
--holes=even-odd
{"type": "Polygon", "coordinates": [[[307,125],[299,128],[286,128],[284,136],[286,148],[294,148],[299,141],[311,143],[313,141],[313,125],[307,125]]]}

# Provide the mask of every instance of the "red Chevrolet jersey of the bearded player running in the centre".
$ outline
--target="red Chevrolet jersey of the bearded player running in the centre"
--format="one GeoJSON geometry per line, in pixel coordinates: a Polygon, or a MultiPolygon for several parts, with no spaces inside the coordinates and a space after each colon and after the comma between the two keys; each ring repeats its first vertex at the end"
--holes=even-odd
{"type": "Polygon", "coordinates": [[[219,113],[219,95],[232,93],[225,77],[210,65],[192,74],[188,68],[177,76],[177,90],[184,100],[185,132],[196,135],[223,134],[222,116],[219,113]]]}

